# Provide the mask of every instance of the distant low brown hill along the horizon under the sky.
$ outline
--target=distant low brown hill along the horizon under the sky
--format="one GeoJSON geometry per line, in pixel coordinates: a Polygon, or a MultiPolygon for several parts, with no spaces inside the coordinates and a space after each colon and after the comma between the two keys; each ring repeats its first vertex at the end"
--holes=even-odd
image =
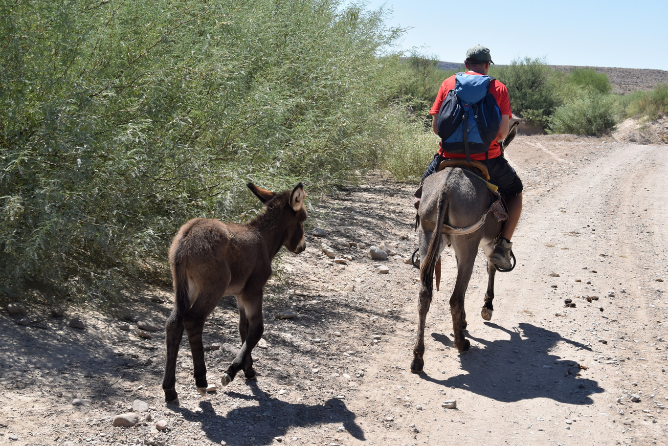
{"type": "MultiPolygon", "coordinates": [[[[502,65],[500,65],[502,66],[502,65]]],[[[553,69],[570,73],[573,69],[589,68],[597,73],[605,73],[613,85],[615,93],[629,93],[637,89],[653,89],[657,83],[668,83],[668,71],[663,69],[639,69],[617,67],[581,67],[575,65],[549,65],[553,69]]],[[[462,63],[438,62],[438,68],[447,71],[464,69],[462,63]]]]}

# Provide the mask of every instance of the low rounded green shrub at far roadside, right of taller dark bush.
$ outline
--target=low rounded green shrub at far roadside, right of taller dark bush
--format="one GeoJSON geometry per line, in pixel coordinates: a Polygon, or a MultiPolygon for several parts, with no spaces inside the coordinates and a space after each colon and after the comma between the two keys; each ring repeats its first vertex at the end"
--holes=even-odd
{"type": "Polygon", "coordinates": [[[581,90],[557,107],[549,119],[550,133],[601,136],[615,129],[619,106],[613,95],[581,90]]]}

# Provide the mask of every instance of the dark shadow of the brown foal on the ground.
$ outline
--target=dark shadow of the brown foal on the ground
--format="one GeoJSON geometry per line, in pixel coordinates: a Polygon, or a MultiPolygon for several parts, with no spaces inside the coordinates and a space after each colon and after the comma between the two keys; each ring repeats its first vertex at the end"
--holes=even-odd
{"type": "Polygon", "coordinates": [[[225,441],[230,446],[271,445],[275,443],[275,437],[286,435],[292,427],[323,424],[343,425],[355,439],[365,440],[364,432],[355,423],[355,413],[349,411],[340,399],[331,398],[315,405],[293,404],[268,396],[258,387],[257,381],[246,381],[246,384],[252,395],[234,391],[225,394],[234,399],[257,401],[258,405],[229,409],[225,405],[214,407],[211,401],[201,401],[201,412],[184,407],[172,410],[187,421],[200,422],[207,439],[216,444],[225,441]]]}

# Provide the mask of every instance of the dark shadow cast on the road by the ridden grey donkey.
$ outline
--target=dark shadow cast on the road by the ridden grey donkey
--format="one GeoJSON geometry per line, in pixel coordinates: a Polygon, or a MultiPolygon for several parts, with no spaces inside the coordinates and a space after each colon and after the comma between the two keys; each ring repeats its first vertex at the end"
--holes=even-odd
{"type": "MultiPolygon", "coordinates": [[[[470,339],[484,345],[484,349],[471,349],[470,353],[459,356],[466,373],[448,379],[436,379],[425,373],[420,377],[506,403],[542,397],[560,403],[588,405],[593,403],[590,395],[604,391],[596,381],[577,377],[580,367],[576,361],[560,359],[554,354],[559,341],[590,351],[591,348],[524,322],[515,330],[484,323],[508,333],[510,340],[486,341],[468,334],[470,339]]],[[[432,337],[448,347],[453,345],[444,334],[432,333],[432,337]]]]}

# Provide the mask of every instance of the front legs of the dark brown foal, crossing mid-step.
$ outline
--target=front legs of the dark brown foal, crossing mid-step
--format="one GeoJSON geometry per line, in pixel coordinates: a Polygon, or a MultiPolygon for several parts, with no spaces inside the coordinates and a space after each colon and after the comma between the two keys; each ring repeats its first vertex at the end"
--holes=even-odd
{"type": "Polygon", "coordinates": [[[244,376],[247,379],[255,378],[256,373],[253,369],[253,357],[251,356],[251,352],[260,341],[262,334],[265,331],[265,326],[262,320],[262,294],[253,296],[252,298],[246,298],[244,299],[244,302],[239,300],[239,303],[239,320],[240,322],[243,320],[246,321],[246,324],[239,324],[239,332],[240,334],[245,332],[246,339],[244,339],[238,355],[236,355],[236,358],[234,358],[230,367],[228,367],[227,371],[222,375],[220,381],[224,386],[231,383],[234,377],[236,377],[236,373],[240,370],[244,371],[244,376]],[[242,328],[242,325],[246,328],[242,328]]]}

